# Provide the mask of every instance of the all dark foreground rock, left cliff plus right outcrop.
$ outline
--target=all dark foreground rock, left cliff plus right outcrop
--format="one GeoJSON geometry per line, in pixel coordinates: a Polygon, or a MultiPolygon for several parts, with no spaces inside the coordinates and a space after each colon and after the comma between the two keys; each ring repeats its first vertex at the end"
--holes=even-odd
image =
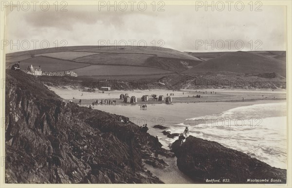
{"type": "Polygon", "coordinates": [[[6,70],[6,79],[6,183],[164,183],[144,167],[167,167],[159,155],[175,155],[200,183],[286,183],[286,170],[217,142],[179,137],[165,150],[124,116],[65,103],[32,75],[6,70]]]}

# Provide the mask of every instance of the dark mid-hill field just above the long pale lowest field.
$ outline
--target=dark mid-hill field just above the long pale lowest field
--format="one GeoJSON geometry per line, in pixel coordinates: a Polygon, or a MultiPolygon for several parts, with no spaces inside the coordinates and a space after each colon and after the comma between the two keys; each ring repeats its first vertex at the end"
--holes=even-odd
{"type": "MultiPolygon", "coordinates": [[[[82,52],[80,52],[82,53],[82,52]]],[[[152,55],[146,54],[125,54],[125,53],[100,53],[74,59],[76,62],[92,64],[115,64],[115,65],[134,65],[141,66],[146,59],[152,55]]]]}

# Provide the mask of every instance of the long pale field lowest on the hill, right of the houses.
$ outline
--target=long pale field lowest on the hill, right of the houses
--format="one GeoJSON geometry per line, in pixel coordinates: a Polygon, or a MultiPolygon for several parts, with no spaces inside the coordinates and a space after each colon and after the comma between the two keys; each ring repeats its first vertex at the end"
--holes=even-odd
{"type": "Polygon", "coordinates": [[[78,76],[100,76],[100,75],[146,75],[146,74],[165,74],[171,71],[158,68],[145,68],[133,66],[107,66],[91,65],[84,68],[73,69],[78,76]]]}

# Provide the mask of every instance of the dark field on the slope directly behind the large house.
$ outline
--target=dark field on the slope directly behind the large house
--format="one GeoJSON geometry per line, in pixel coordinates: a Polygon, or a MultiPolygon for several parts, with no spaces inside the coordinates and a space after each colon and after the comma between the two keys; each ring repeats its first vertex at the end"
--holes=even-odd
{"type": "Polygon", "coordinates": [[[72,61],[53,59],[50,57],[34,57],[20,62],[20,68],[25,69],[30,65],[35,68],[41,66],[42,71],[62,71],[88,66],[88,64],[75,63],[72,61]]]}

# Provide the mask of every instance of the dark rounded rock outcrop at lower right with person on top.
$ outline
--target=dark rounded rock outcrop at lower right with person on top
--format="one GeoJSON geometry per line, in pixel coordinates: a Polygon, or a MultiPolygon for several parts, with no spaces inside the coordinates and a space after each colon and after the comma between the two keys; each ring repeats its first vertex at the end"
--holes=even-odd
{"type": "Polygon", "coordinates": [[[214,141],[189,136],[183,142],[180,137],[171,147],[179,169],[199,182],[219,179],[219,183],[286,183],[286,170],[214,141]],[[265,179],[269,182],[262,181],[265,179]],[[271,182],[272,179],[276,182],[271,182]]]}

